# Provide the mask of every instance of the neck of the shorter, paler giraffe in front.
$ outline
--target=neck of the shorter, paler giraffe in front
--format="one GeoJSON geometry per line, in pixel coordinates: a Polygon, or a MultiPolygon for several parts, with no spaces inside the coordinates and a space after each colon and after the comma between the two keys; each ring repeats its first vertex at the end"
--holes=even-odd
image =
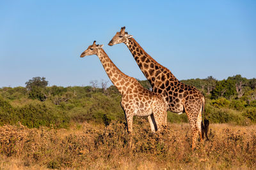
{"type": "Polygon", "coordinates": [[[125,90],[127,89],[124,88],[124,86],[127,87],[127,82],[130,82],[129,79],[131,79],[131,77],[122,73],[122,71],[120,71],[120,69],[118,69],[118,67],[115,66],[112,60],[109,59],[108,55],[103,49],[99,50],[97,56],[99,57],[102,66],[108,74],[109,79],[118,89],[118,91],[121,94],[124,94],[125,90]]]}

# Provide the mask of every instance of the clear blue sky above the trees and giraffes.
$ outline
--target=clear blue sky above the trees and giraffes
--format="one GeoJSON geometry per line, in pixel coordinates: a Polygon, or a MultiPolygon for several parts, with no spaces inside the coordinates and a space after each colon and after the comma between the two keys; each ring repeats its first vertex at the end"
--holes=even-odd
{"type": "MultiPolygon", "coordinates": [[[[256,1],[0,1],[0,87],[109,80],[93,40],[125,74],[145,80],[120,27],[179,79],[256,77],[256,1]]],[[[109,83],[110,85],[110,83],[109,83]]]]}

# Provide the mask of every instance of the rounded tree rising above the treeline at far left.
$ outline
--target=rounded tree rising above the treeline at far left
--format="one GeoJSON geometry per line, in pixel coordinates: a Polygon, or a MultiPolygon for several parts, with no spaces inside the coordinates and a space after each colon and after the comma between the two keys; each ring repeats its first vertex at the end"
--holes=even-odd
{"type": "Polygon", "coordinates": [[[44,77],[34,77],[25,84],[26,88],[29,90],[29,98],[45,101],[47,98],[45,95],[45,87],[47,87],[48,81],[46,81],[44,77]]]}

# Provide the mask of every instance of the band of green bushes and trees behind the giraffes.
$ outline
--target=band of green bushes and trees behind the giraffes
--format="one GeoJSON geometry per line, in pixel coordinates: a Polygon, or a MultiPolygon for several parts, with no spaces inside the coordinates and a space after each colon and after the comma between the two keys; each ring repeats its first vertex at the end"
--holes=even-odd
{"type": "MultiPolygon", "coordinates": [[[[206,97],[205,115],[212,123],[248,125],[256,122],[256,79],[241,75],[216,80],[182,80],[195,86],[206,97]]],[[[147,80],[141,85],[151,89],[147,80]]],[[[0,125],[22,123],[28,127],[67,128],[79,122],[109,125],[125,122],[121,96],[108,81],[91,81],[86,87],[48,86],[45,78],[28,80],[26,87],[0,89],[0,125]]],[[[136,121],[136,118],[135,118],[136,121]]],[[[188,122],[186,114],[168,113],[169,122],[188,122]]]]}

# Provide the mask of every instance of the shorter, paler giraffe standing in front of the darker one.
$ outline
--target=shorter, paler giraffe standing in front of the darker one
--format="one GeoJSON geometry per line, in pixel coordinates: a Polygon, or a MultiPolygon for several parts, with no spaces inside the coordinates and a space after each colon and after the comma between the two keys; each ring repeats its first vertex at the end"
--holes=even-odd
{"type": "Polygon", "coordinates": [[[120,104],[125,113],[128,132],[132,133],[133,116],[148,117],[151,131],[161,131],[162,127],[167,125],[167,106],[163,97],[142,87],[135,78],[122,73],[109,59],[102,46],[93,41],[93,45],[88,46],[80,57],[99,57],[109,79],[122,95],[120,104]]]}

